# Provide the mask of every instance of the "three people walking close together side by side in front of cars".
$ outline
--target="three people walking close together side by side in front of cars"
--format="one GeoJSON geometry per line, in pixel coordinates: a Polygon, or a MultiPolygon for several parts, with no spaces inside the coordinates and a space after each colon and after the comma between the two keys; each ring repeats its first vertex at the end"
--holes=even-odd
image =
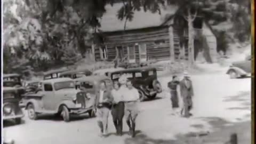
{"type": "Polygon", "coordinates": [[[97,117],[100,127],[100,137],[108,135],[108,116],[111,111],[116,134],[123,134],[123,117],[129,126],[129,134],[135,137],[135,119],[138,116],[139,92],[125,76],[113,82],[114,89],[108,89],[101,82],[97,97],[97,117]]]}

